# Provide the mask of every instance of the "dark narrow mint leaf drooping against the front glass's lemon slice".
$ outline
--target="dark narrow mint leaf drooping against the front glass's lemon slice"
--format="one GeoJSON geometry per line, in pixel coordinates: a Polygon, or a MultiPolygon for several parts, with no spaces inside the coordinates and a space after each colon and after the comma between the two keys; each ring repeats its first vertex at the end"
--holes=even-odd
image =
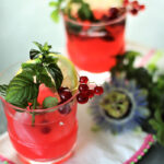
{"type": "Polygon", "coordinates": [[[54,79],[56,89],[58,90],[61,86],[61,83],[63,80],[63,75],[62,75],[60,68],[57,66],[57,63],[50,63],[46,68],[48,72],[50,73],[51,78],[54,79]]]}

